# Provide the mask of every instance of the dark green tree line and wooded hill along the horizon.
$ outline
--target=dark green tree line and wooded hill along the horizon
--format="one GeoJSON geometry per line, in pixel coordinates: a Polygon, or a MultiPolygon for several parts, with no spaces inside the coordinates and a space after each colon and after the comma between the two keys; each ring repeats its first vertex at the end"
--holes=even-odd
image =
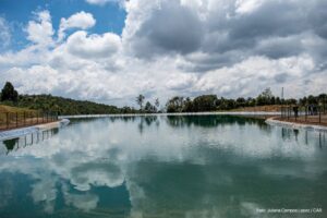
{"type": "Polygon", "coordinates": [[[281,99],[274,96],[270,88],[266,88],[255,98],[239,97],[232,99],[218,97],[217,95],[201,95],[191,99],[190,97],[174,96],[170,98],[166,105],[161,105],[158,98],[156,98],[154,102],[150,102],[146,100],[144,95],[138,95],[135,101],[138,105],[138,109],[133,107],[119,108],[105,104],[74,100],[51,95],[19,95],[10,82],[7,82],[1,90],[1,104],[3,105],[43,111],[56,111],[59,114],[204,112],[271,105],[306,106],[327,104],[327,94],[320,94],[318,96],[310,95],[300,99],[281,99]]]}

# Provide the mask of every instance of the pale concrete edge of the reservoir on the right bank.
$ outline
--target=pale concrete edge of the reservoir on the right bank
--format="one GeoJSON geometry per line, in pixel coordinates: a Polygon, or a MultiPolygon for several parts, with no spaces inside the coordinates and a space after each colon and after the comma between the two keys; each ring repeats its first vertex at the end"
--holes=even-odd
{"type": "Polygon", "coordinates": [[[282,126],[287,129],[327,132],[327,126],[324,125],[293,123],[293,122],[275,120],[274,118],[269,118],[265,122],[269,125],[282,126]]]}

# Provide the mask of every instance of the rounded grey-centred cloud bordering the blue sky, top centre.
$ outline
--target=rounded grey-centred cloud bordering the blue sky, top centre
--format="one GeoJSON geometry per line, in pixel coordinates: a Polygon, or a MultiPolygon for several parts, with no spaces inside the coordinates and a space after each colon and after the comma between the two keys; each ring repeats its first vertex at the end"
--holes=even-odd
{"type": "Polygon", "coordinates": [[[179,1],[162,1],[142,21],[130,40],[133,51],[141,57],[169,51],[189,53],[201,45],[202,24],[197,14],[179,1]]]}

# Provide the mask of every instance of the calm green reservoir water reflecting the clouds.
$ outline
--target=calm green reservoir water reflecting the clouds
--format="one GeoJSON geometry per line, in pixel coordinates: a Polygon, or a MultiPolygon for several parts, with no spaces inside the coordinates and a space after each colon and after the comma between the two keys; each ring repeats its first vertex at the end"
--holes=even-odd
{"type": "Polygon", "coordinates": [[[73,120],[0,142],[0,217],[290,217],[322,208],[327,135],[227,116],[73,120]]]}

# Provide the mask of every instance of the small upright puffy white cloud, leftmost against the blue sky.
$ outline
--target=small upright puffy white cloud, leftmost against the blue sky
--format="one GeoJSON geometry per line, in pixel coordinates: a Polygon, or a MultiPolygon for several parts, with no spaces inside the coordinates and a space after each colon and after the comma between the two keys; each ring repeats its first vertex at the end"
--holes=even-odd
{"type": "Polygon", "coordinates": [[[55,34],[50,13],[41,11],[35,15],[36,19],[29,21],[26,28],[27,39],[36,45],[49,47],[53,44],[52,36],[55,34]]]}

